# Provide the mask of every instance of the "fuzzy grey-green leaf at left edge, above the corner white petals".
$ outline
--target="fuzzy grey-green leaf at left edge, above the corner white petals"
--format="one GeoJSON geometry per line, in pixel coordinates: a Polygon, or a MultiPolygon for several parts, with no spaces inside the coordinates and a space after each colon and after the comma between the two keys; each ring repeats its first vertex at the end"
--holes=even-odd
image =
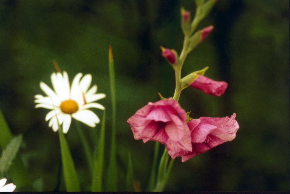
{"type": "Polygon", "coordinates": [[[3,173],[6,172],[11,166],[12,161],[20,148],[22,137],[22,134],[14,137],[2,152],[0,158],[0,175],[3,175],[3,173]]]}

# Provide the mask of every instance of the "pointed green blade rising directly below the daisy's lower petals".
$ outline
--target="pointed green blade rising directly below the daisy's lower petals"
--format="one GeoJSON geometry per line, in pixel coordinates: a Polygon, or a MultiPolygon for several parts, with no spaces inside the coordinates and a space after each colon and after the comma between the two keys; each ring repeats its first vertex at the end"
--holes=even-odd
{"type": "Polygon", "coordinates": [[[68,147],[68,142],[62,133],[62,128],[58,129],[59,143],[61,150],[61,163],[64,173],[64,182],[66,185],[66,191],[77,192],[80,191],[79,180],[77,178],[77,171],[75,170],[75,165],[73,163],[73,158],[70,155],[70,149],[68,147]]]}

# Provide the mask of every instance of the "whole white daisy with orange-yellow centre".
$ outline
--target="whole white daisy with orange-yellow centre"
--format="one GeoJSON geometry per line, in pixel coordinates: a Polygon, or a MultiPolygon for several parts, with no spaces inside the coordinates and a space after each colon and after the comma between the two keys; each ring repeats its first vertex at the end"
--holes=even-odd
{"type": "Polygon", "coordinates": [[[52,130],[58,130],[62,124],[63,133],[67,133],[70,127],[72,117],[95,127],[100,122],[99,117],[88,108],[99,108],[105,110],[104,106],[94,101],[106,97],[105,94],[96,94],[97,85],[90,87],[92,76],[85,75],[82,79],[82,73],[78,73],[73,79],[71,88],[68,80],[68,74],[64,71],[52,73],[51,82],[54,91],[44,82],[40,82],[40,88],[47,96],[35,95],[35,108],[47,108],[51,111],[47,113],[45,120],[49,121],[48,126],[52,130]]]}

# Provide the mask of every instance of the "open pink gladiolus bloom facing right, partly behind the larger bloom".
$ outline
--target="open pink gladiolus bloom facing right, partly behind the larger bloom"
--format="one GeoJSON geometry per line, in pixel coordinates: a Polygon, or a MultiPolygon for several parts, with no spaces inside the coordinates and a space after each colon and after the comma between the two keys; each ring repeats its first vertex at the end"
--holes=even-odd
{"type": "Polygon", "coordinates": [[[187,125],[191,131],[193,149],[182,155],[182,162],[224,142],[233,140],[237,130],[240,128],[235,116],[236,114],[234,113],[231,118],[200,117],[199,119],[190,120],[187,125]]]}

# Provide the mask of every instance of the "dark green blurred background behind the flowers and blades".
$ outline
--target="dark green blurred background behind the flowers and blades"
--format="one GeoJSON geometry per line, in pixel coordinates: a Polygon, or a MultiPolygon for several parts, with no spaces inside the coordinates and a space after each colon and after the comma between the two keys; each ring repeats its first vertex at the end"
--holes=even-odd
{"type": "MultiPolygon", "coordinates": [[[[126,120],[149,101],[174,93],[174,71],[160,46],[182,49],[180,7],[194,1],[1,0],[0,109],[14,135],[31,185],[16,191],[54,191],[60,153],[48,128],[48,110],[35,109],[39,82],[51,86],[52,59],[68,72],[93,75],[97,102],[107,109],[106,161],[111,104],[108,48],[112,44],[117,87],[119,191],[125,191],[128,150],[134,176],[146,189],[154,142],[136,141],[126,120]]],[[[206,66],[206,76],[229,83],[221,97],[186,88],[180,105],[192,118],[236,113],[236,138],[182,163],[175,159],[165,191],[289,191],[289,1],[220,0],[198,29],[214,25],[187,57],[182,76],[206,66]]],[[[93,110],[99,117],[102,111],[93,110]]],[[[74,122],[66,137],[84,191],[88,166],[74,122]]],[[[88,137],[99,132],[82,125],[88,137]]],[[[93,138],[91,143],[95,143],[93,138]]],[[[164,145],[160,146],[160,153],[164,145]]],[[[105,168],[107,162],[105,163],[105,168]]],[[[61,183],[59,191],[64,191],[61,183]]],[[[108,189],[110,190],[110,189],[108,189]]]]}

